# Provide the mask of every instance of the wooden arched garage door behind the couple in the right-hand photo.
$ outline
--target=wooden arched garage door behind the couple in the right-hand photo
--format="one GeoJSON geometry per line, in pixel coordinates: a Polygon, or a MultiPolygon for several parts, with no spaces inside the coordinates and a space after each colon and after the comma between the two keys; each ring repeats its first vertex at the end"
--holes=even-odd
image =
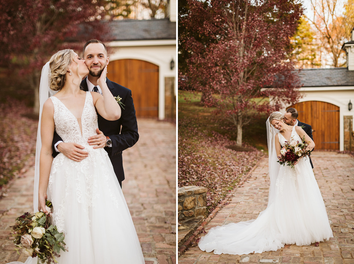
{"type": "Polygon", "coordinates": [[[292,106],[300,120],[312,126],[316,149],[339,150],[339,107],[334,104],[308,101],[292,106]]]}

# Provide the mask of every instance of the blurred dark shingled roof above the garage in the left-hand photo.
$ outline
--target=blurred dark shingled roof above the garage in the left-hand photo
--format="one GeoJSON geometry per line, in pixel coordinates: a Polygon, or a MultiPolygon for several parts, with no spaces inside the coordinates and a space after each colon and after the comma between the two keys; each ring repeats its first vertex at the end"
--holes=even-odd
{"type": "Polygon", "coordinates": [[[165,19],[113,20],[109,22],[113,40],[176,39],[176,22],[165,19]]]}

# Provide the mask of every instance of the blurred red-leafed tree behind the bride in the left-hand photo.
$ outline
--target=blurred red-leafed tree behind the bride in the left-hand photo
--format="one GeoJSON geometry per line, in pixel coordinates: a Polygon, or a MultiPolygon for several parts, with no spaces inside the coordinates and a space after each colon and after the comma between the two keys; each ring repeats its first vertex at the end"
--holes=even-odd
{"type": "Polygon", "coordinates": [[[0,62],[22,68],[18,79],[27,78],[35,91],[35,112],[42,66],[61,48],[81,54],[88,39],[102,40],[104,23],[95,22],[106,15],[104,4],[104,0],[0,0],[0,62]],[[79,24],[90,34],[77,35],[79,24]]]}

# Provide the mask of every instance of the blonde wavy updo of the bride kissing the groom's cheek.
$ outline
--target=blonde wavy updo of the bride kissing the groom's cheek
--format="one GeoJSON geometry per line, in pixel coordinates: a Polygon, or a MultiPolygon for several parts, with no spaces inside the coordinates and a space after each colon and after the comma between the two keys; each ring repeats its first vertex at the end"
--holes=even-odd
{"type": "Polygon", "coordinates": [[[60,91],[66,82],[66,73],[75,58],[73,50],[59,50],[49,60],[50,81],[49,87],[53,91],[60,91]]]}

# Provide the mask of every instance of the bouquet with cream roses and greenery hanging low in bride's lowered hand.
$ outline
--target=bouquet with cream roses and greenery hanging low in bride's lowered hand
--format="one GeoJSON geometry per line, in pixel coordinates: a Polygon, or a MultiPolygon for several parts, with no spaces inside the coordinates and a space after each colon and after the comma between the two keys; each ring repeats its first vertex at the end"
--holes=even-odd
{"type": "Polygon", "coordinates": [[[27,256],[38,257],[37,263],[56,263],[55,257],[60,257],[60,249],[67,251],[64,243],[64,234],[59,233],[56,226],[50,223],[51,201],[46,201],[46,209],[49,214],[37,212],[35,214],[24,213],[16,218],[16,224],[12,226],[13,243],[17,247],[17,253],[22,249],[27,256]]]}

